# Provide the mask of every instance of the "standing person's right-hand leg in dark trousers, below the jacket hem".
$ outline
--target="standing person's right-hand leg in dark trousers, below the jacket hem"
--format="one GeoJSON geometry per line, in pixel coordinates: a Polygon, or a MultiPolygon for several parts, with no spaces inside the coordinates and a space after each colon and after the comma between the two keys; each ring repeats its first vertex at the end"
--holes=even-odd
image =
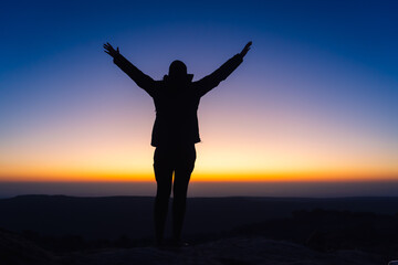
{"type": "Polygon", "coordinates": [[[176,243],[181,240],[188,184],[196,160],[195,146],[181,149],[178,159],[172,188],[172,229],[176,243]]]}

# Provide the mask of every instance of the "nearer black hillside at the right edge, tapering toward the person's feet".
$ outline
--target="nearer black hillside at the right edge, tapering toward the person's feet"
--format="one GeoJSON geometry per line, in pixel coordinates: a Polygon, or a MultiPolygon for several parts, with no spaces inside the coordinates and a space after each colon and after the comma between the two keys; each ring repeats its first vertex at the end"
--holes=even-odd
{"type": "Polygon", "coordinates": [[[395,257],[398,252],[398,213],[296,211],[292,216],[243,225],[231,235],[266,236],[303,244],[320,252],[362,250],[395,257]]]}

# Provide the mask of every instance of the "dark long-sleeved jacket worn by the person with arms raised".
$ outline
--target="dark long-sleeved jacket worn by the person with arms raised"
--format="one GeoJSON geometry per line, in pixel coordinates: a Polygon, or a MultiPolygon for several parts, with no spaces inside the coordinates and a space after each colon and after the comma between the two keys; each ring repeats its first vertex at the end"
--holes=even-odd
{"type": "Polygon", "coordinates": [[[154,98],[156,119],[150,144],[154,147],[199,142],[200,97],[226,80],[242,61],[237,54],[210,75],[192,82],[192,75],[184,80],[165,75],[163,81],[154,81],[123,55],[114,57],[114,63],[154,98]]]}

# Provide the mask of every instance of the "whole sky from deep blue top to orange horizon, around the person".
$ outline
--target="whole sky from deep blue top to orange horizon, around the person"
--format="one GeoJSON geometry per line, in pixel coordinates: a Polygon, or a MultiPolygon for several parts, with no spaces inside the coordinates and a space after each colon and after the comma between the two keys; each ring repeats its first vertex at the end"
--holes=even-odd
{"type": "Polygon", "coordinates": [[[163,78],[240,52],[201,99],[200,180],[398,181],[397,1],[8,1],[0,181],[153,180],[151,98],[103,43],[163,78]]]}

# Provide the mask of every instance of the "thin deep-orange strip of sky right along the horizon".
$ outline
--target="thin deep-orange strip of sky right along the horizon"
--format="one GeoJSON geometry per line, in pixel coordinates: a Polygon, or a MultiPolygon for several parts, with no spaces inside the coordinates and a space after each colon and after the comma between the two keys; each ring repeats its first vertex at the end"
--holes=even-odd
{"type": "MultiPolygon", "coordinates": [[[[277,171],[263,173],[205,173],[200,170],[192,173],[195,182],[323,182],[323,181],[398,181],[398,173],[391,172],[363,172],[358,171],[277,171]]],[[[46,172],[27,174],[1,174],[0,182],[148,182],[155,181],[154,173],[128,173],[128,172],[46,172]]]]}

